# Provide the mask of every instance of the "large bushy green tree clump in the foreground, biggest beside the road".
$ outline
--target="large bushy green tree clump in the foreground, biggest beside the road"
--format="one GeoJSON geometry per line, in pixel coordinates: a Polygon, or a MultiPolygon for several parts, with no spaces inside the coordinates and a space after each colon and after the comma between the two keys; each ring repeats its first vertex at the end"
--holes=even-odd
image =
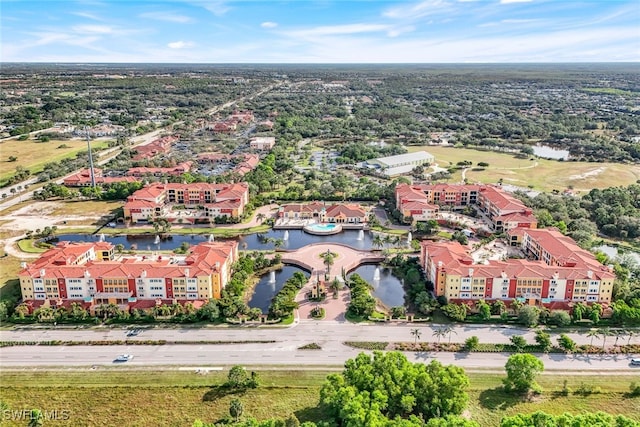
{"type": "Polygon", "coordinates": [[[411,363],[400,352],[360,353],[320,390],[323,415],[338,425],[390,425],[396,417],[429,420],[460,414],[469,379],[456,366],[411,363]],[[401,381],[398,381],[402,378],[401,381]]]}

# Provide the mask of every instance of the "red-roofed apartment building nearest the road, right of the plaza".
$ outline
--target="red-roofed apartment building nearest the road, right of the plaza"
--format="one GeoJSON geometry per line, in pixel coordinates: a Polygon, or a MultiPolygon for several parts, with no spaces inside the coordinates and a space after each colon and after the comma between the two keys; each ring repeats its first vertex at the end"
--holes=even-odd
{"type": "MultiPolygon", "coordinates": [[[[549,248],[541,249],[543,253],[553,251],[556,244],[550,240],[538,243],[549,248]]],[[[420,260],[436,296],[449,301],[519,299],[555,307],[578,301],[610,303],[615,274],[584,252],[580,263],[510,259],[477,264],[458,242],[422,242],[420,260]]]]}

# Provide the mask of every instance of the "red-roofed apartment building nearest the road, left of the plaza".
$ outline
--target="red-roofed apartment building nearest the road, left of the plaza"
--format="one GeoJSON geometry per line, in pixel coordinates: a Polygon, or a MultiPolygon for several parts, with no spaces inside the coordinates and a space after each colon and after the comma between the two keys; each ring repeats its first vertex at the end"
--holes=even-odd
{"type": "Polygon", "coordinates": [[[139,299],[220,298],[238,242],[194,246],[186,256],[114,256],[107,242],[60,242],[18,273],[25,301],[129,306],[139,299]]]}

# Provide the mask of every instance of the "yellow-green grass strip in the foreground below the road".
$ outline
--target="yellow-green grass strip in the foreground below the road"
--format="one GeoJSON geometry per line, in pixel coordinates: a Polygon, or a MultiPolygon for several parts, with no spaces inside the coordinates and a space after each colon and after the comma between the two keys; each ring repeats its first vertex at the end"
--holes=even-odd
{"type": "MultiPolygon", "coordinates": [[[[0,399],[12,409],[69,410],[68,421],[56,425],[188,426],[200,418],[212,422],[228,414],[229,402],[239,398],[245,415],[258,419],[295,413],[300,421],[317,421],[319,390],[330,371],[260,371],[261,386],[241,394],[227,394],[216,387],[226,371],[199,375],[192,371],[5,371],[0,399]]],[[[543,395],[533,402],[504,393],[504,375],[470,373],[470,403],[466,414],[483,427],[499,425],[500,419],[520,412],[559,414],[606,410],[640,420],[640,400],[626,397],[632,376],[543,375],[543,395]],[[558,392],[564,379],[568,387],[581,383],[600,387],[590,396],[558,392]]],[[[8,424],[11,425],[11,424],[8,424]]],[[[16,424],[18,425],[18,424],[16,424]]]]}

